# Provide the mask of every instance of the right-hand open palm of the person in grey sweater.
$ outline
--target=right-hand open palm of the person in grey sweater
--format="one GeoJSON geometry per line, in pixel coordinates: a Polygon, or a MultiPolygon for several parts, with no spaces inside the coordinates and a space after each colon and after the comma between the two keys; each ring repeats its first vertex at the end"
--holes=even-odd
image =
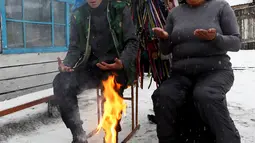
{"type": "Polygon", "coordinates": [[[210,28],[209,30],[205,29],[196,29],[194,35],[203,39],[203,40],[213,40],[216,37],[216,29],[210,28]]]}

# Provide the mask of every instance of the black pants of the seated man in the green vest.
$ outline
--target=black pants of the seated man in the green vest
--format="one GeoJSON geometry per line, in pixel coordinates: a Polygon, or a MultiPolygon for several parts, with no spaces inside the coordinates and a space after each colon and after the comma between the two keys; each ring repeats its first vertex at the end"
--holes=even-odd
{"type": "Polygon", "coordinates": [[[105,72],[94,67],[70,73],[59,73],[55,77],[53,81],[55,102],[59,105],[62,120],[67,128],[75,130],[83,123],[80,119],[77,95],[86,89],[96,88],[111,74],[117,74],[116,81],[123,85],[117,91],[122,95],[127,83],[124,71],[105,72]]]}

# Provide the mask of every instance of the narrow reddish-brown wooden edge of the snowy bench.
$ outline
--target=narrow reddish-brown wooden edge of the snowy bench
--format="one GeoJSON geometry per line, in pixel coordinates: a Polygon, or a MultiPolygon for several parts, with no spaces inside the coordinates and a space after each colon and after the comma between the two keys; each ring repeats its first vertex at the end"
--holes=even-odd
{"type": "Polygon", "coordinates": [[[18,105],[16,107],[13,108],[9,108],[9,109],[5,109],[5,110],[0,110],[0,117],[47,102],[51,99],[51,97],[53,97],[53,95],[49,95],[48,97],[44,97],[35,101],[31,101],[22,105],[18,105]]]}

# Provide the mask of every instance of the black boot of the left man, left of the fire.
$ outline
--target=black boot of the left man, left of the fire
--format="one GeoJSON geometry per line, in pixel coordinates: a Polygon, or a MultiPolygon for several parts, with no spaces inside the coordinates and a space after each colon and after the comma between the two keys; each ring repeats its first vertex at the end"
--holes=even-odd
{"type": "Polygon", "coordinates": [[[88,143],[86,132],[82,127],[78,127],[76,129],[71,130],[73,135],[72,143],[88,143]]]}

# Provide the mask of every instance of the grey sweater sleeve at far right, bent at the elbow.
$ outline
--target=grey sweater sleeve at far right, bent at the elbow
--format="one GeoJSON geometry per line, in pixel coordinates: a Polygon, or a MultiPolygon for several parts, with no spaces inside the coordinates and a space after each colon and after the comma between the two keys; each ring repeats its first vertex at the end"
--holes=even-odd
{"type": "Polygon", "coordinates": [[[226,3],[220,14],[220,25],[223,34],[217,33],[213,42],[225,51],[239,51],[242,46],[241,36],[238,30],[237,18],[234,10],[226,3]]]}

